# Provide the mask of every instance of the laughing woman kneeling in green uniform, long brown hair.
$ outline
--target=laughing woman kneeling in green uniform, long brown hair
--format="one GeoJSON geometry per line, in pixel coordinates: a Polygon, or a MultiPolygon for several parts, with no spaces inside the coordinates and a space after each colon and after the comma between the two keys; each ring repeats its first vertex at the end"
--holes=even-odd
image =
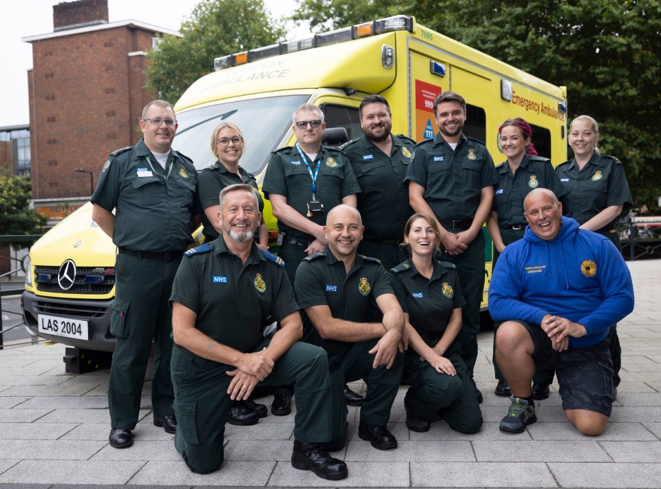
{"type": "Polygon", "coordinates": [[[402,383],[406,426],[423,432],[439,415],[460,433],[476,433],[482,413],[470,374],[461,360],[459,275],[454,264],[435,259],[441,235],[434,219],[414,214],[406,222],[404,243],[411,258],[390,270],[392,287],[406,318],[408,349],[402,383]]]}

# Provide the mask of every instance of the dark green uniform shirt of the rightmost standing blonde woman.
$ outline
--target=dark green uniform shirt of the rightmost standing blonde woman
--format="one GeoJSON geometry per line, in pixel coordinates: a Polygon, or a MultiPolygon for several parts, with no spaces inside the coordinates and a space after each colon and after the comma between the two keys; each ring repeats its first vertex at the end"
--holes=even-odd
{"type": "MultiPolygon", "coordinates": [[[[613,156],[595,152],[580,171],[576,160],[565,161],[558,165],[556,174],[567,189],[563,216],[576,219],[578,224],[584,224],[611,205],[622,204],[622,210],[626,211],[633,203],[625,167],[613,156]]],[[[617,221],[615,218],[605,228],[617,221]]]]}

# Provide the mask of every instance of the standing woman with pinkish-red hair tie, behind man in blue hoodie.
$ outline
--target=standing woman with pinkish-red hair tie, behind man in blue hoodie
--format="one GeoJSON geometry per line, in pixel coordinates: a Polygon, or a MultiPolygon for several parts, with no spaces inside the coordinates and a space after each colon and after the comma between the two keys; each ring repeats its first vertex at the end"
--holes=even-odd
{"type": "MultiPolygon", "coordinates": [[[[523,238],[527,222],[523,217],[523,199],[536,188],[552,190],[558,199],[567,193],[560,183],[548,158],[538,156],[532,144],[532,128],[521,117],[507,119],[498,128],[499,145],[507,160],[496,165],[498,183],[494,185],[494,207],[487,220],[487,231],[494,242],[493,266],[507,245],[523,238]]],[[[496,330],[494,324],[494,348],[496,330]]],[[[495,352],[495,350],[494,350],[495,352]]],[[[493,357],[494,374],[498,380],[496,395],[511,395],[510,385],[493,357]]],[[[532,386],[534,399],[549,397],[549,385],[553,382],[553,371],[539,370],[535,373],[532,386]]]]}

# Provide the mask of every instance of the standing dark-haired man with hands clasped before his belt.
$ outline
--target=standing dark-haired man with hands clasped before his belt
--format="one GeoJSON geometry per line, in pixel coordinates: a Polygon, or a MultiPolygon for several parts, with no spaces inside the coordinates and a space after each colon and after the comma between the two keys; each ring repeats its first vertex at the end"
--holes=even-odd
{"type": "MultiPolygon", "coordinates": [[[[439,133],[417,145],[405,180],[413,210],[434,216],[439,223],[439,260],[457,267],[466,301],[457,338],[472,378],[484,291],[482,225],[491,212],[498,178],[484,143],[462,133],[466,101],[461,95],[448,91],[437,96],[434,117],[439,133]]],[[[481,402],[479,391],[478,399],[481,402]]]]}

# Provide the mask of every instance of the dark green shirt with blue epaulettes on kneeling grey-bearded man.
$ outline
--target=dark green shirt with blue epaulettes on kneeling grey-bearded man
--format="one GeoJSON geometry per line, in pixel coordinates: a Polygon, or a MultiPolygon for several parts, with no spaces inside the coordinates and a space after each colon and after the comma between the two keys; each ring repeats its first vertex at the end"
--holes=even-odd
{"type": "Polygon", "coordinates": [[[209,245],[211,251],[189,252],[181,261],[170,301],[196,313],[196,329],[211,339],[251,351],[264,340],[266,324],[298,311],[289,280],[254,243],[245,264],[222,236],[209,245]]]}

